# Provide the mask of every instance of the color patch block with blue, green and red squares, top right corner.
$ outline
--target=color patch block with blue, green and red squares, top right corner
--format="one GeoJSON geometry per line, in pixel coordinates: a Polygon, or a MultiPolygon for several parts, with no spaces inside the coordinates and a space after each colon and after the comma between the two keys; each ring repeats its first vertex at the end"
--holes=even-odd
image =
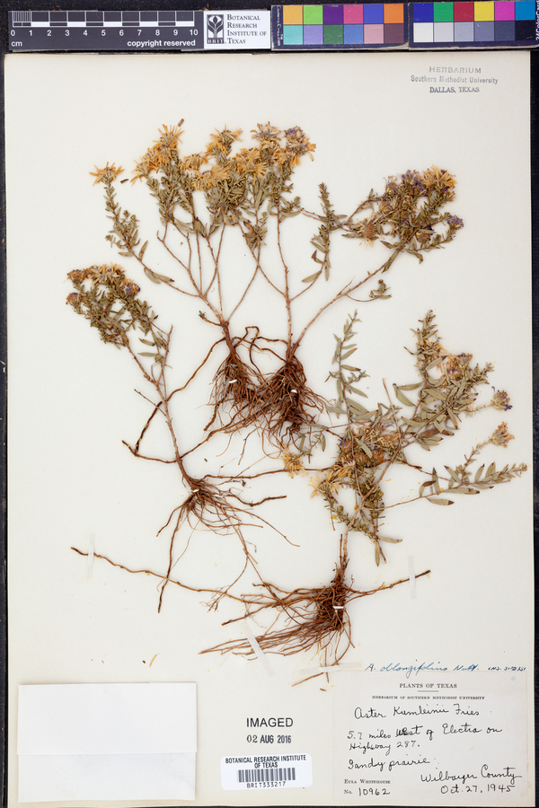
{"type": "Polygon", "coordinates": [[[414,3],[411,10],[412,47],[534,44],[535,36],[535,0],[414,3]]]}

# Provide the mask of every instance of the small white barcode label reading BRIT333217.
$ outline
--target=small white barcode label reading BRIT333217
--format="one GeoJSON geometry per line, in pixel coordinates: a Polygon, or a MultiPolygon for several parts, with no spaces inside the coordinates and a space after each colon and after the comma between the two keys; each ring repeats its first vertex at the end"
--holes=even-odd
{"type": "Polygon", "coordinates": [[[226,791],[252,788],[305,788],[313,784],[311,755],[238,755],[221,758],[226,791]]]}

